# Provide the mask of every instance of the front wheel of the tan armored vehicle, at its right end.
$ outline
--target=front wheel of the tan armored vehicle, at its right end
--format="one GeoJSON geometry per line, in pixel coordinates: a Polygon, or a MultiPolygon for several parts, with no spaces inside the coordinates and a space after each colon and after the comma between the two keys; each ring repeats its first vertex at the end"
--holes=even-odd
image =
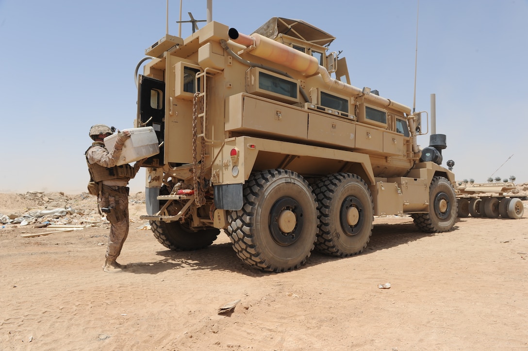
{"type": "Polygon", "coordinates": [[[455,189],[445,177],[435,176],[429,186],[429,213],[412,214],[414,224],[422,232],[450,231],[457,219],[455,189]]]}

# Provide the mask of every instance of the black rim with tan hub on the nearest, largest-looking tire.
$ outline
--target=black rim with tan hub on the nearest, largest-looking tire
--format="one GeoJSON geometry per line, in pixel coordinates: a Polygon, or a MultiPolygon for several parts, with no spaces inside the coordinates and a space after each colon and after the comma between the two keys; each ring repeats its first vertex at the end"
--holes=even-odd
{"type": "Polygon", "coordinates": [[[277,244],[293,244],[303,231],[303,207],[291,197],[279,198],[271,206],[268,225],[271,237],[277,244]]]}

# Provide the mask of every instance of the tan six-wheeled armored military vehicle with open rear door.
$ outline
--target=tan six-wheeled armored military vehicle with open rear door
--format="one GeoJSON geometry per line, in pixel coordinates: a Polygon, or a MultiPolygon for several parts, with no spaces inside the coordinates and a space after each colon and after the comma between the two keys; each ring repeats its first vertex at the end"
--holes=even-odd
{"type": "Polygon", "coordinates": [[[159,242],[194,250],[225,230],[244,263],[282,272],[314,248],[360,253],[374,216],[452,229],[445,136],[420,150],[420,114],[352,86],[334,39],[274,17],[251,35],[210,22],[146,50],[136,127],[162,144],[145,163],[143,217],[159,242]]]}

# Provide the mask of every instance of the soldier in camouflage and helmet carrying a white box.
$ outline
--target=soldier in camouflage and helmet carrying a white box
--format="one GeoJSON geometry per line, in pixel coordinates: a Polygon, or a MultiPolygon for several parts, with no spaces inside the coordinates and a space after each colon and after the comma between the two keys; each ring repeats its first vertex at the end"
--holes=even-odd
{"type": "Polygon", "coordinates": [[[141,161],[134,167],[130,165],[116,166],[125,141],[130,138],[130,132],[119,132],[114,148],[108,150],[103,143],[105,137],[112,135],[112,130],[106,125],[95,125],[90,128],[92,146],[86,150],[86,162],[90,172],[90,182],[97,191],[90,193],[98,195],[99,213],[107,213],[110,222],[110,235],[106,250],[106,261],[103,270],[107,273],[122,272],[126,265],[116,262],[128,235],[128,182],[134,178],[141,161]]]}

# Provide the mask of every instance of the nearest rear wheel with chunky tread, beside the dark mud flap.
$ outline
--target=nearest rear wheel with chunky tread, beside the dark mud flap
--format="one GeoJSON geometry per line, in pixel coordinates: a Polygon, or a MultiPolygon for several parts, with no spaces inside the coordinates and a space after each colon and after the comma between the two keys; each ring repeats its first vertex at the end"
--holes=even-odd
{"type": "Polygon", "coordinates": [[[253,268],[299,268],[314,249],[317,204],[312,188],[295,172],[253,173],[243,188],[242,210],[231,211],[227,231],[238,257],[253,268]]]}

